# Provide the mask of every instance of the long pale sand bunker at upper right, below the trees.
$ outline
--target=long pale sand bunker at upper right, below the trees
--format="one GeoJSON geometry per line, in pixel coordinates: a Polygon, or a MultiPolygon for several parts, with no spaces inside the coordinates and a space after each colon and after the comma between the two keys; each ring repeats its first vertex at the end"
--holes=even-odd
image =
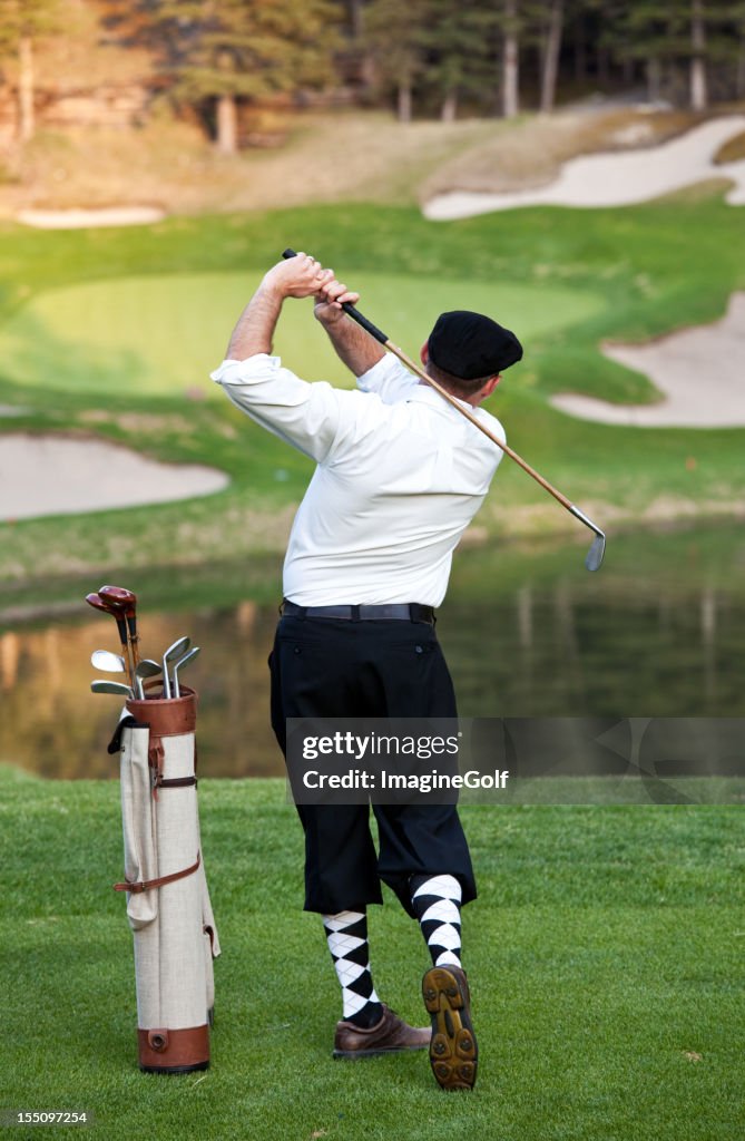
{"type": "Polygon", "coordinates": [[[435,221],[470,218],[515,207],[561,205],[584,209],[631,205],[670,194],[711,178],[735,183],[726,196],[730,205],[745,204],[745,160],[714,165],[716,152],[745,129],[745,115],[702,123],[661,146],[573,159],[549,186],[508,194],[456,191],[431,199],[424,217],[435,221]]]}

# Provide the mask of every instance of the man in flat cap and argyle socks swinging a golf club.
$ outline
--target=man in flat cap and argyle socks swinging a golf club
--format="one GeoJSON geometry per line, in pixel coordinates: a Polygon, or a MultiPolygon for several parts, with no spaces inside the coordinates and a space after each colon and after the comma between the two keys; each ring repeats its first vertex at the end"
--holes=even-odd
{"type": "MultiPolygon", "coordinates": [[[[502,455],[347,318],[342,304],[357,300],[314,258],[281,261],[212,373],[238,408],[317,463],[290,535],[270,657],[272,723],[285,752],[291,717],[456,715],[435,607],[502,455]],[[306,383],[270,356],[285,299],[311,296],[356,391],[306,383]]],[[[421,350],[429,374],[501,438],[502,426],[479,405],[521,356],[513,333],[472,313],[443,314],[421,350]]],[[[298,812],[305,908],[323,916],[342,988],[334,1057],[429,1046],[439,1085],[471,1089],[477,1049],[460,908],[476,884],[455,806],[375,804],[378,855],[366,804],[299,804],[298,812]],[[381,880],[427,940],[432,966],[422,993],[431,1028],[407,1026],[375,993],[366,908],[382,903],[381,880]]]]}

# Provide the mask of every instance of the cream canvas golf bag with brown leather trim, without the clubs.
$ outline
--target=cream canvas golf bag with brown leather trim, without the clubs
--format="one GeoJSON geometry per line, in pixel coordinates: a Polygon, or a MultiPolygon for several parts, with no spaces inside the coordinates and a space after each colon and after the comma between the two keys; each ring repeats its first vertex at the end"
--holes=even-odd
{"type": "Polygon", "coordinates": [[[121,753],[127,916],[133,933],[139,1066],[210,1063],[212,960],[220,953],[204,875],[195,775],[196,694],[129,699],[121,753]]]}

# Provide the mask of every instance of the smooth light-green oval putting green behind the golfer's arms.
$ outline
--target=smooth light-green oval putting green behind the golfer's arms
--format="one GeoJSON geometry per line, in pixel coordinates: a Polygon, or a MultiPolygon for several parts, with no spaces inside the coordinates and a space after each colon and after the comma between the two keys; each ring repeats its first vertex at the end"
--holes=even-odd
{"type": "MultiPolygon", "coordinates": [[[[212,391],[230,330],[259,274],[179,274],[87,282],[37,294],[0,329],[2,372],[23,385],[138,395],[212,391]]],[[[349,270],[361,308],[415,356],[438,313],[475,309],[532,337],[604,308],[601,297],[567,289],[349,270]]],[[[275,351],[309,380],[348,382],[313,321],[310,301],[285,307],[275,351]]]]}

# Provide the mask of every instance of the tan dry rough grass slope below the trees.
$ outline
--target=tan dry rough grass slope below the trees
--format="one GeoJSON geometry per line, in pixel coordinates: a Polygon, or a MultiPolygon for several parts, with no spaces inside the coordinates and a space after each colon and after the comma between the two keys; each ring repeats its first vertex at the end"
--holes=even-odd
{"type": "Polygon", "coordinates": [[[175,213],[267,210],[278,199],[285,207],[411,204],[454,187],[541,185],[578,154],[654,145],[701,118],[591,102],[510,122],[399,123],[384,111],[275,111],[268,137],[277,145],[234,156],[219,154],[195,126],[163,115],[130,131],[47,128],[9,157],[0,216],[29,207],[143,203],[175,213]]]}

